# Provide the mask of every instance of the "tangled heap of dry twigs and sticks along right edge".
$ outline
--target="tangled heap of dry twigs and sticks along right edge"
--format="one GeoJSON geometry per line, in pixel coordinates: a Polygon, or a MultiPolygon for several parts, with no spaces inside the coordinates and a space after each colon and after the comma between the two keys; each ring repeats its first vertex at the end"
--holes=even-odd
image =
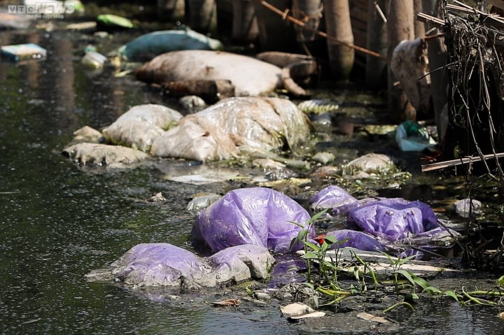
{"type": "Polygon", "coordinates": [[[418,19],[440,29],[447,48],[446,66],[430,69],[444,71],[448,79],[444,156],[481,159],[502,188],[504,174],[497,158],[504,152],[504,3],[489,3],[472,8],[445,1],[444,20],[425,13],[418,19]]]}

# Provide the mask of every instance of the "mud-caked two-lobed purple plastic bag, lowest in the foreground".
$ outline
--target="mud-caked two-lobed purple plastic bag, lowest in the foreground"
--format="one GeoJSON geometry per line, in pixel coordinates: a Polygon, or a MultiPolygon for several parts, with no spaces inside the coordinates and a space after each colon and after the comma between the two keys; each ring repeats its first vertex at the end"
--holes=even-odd
{"type": "Polygon", "coordinates": [[[200,286],[216,286],[234,280],[266,278],[275,260],[260,245],[237,245],[211,257],[169,243],[142,243],[111,264],[114,278],[137,287],[177,287],[182,280],[200,286]]]}

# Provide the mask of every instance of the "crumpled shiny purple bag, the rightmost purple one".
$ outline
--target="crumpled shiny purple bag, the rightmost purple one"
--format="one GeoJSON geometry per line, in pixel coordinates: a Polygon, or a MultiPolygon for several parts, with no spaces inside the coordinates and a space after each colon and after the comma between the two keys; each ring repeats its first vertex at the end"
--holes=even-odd
{"type": "Polygon", "coordinates": [[[394,242],[440,227],[435,213],[427,204],[402,198],[380,199],[351,208],[347,222],[350,227],[353,224],[374,236],[394,242]]]}

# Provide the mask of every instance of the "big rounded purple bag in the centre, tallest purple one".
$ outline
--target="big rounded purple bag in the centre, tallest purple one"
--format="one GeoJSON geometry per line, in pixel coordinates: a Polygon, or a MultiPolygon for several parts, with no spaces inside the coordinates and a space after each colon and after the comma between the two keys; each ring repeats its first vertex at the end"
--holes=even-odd
{"type": "MultiPolygon", "coordinates": [[[[191,239],[216,252],[241,244],[261,245],[274,252],[289,252],[290,243],[308,227],[309,213],[285,194],[265,187],[233,190],[205,208],[197,217],[191,239]],[[294,224],[301,224],[302,227],[294,224]]],[[[292,251],[302,244],[293,245],[292,251]]]]}

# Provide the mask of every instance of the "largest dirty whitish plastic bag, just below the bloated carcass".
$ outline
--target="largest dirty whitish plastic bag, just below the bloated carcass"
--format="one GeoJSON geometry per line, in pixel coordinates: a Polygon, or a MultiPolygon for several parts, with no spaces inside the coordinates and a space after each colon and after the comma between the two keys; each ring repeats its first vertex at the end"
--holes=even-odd
{"type": "Polygon", "coordinates": [[[235,157],[240,145],[293,148],[309,133],[309,120],[292,101],[236,97],[183,117],[154,141],[151,153],[207,162],[235,157]]]}

